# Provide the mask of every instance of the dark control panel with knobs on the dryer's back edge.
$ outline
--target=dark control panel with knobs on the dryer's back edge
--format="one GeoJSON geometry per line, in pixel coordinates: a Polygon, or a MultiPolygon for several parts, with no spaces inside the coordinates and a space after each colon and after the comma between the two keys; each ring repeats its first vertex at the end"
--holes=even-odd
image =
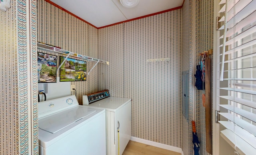
{"type": "Polygon", "coordinates": [[[107,98],[109,96],[110,96],[110,94],[109,94],[108,90],[103,90],[100,92],[94,92],[91,94],[83,95],[83,105],[89,105],[92,102],[101,100],[103,98],[107,98]]]}

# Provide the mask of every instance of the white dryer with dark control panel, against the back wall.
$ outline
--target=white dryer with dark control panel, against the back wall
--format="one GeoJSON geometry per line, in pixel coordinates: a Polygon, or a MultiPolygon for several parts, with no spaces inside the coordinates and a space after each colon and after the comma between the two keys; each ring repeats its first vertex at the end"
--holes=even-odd
{"type": "Polygon", "coordinates": [[[132,136],[131,99],[110,97],[108,90],[104,90],[84,95],[83,105],[106,110],[107,155],[118,155],[118,145],[122,155],[132,136]]]}

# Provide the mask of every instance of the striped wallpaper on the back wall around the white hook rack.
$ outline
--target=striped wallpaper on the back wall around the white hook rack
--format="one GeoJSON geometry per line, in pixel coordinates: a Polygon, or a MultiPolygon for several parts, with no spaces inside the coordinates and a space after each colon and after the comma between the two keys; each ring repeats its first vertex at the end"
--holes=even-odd
{"type": "Polygon", "coordinates": [[[132,98],[132,136],[181,147],[181,10],[99,29],[100,87],[132,98]],[[170,58],[168,62],[147,59],[170,58]]]}

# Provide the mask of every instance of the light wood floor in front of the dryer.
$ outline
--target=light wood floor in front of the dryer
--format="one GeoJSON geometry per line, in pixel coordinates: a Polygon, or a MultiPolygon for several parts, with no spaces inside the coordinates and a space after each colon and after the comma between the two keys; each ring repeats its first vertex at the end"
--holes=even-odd
{"type": "Polygon", "coordinates": [[[181,153],[161,149],[135,141],[129,141],[122,155],[181,155],[181,153]]]}

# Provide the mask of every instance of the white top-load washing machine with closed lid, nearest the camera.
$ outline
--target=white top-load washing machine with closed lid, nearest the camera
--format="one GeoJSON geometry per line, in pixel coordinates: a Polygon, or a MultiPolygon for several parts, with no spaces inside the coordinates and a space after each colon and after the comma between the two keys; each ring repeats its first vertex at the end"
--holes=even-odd
{"type": "Polygon", "coordinates": [[[105,155],[105,119],[105,109],[78,105],[74,95],[39,102],[39,155],[105,155]]]}

